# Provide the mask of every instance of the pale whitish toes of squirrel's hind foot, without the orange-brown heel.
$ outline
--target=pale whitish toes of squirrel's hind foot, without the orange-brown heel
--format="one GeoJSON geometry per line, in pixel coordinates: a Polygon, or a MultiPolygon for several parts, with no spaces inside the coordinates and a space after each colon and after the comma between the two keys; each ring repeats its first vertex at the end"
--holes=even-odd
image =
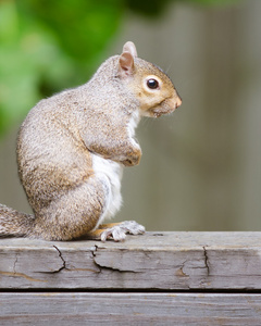
{"type": "Polygon", "coordinates": [[[104,242],[108,238],[112,238],[114,241],[123,241],[126,238],[126,234],[141,235],[145,233],[145,227],[135,221],[125,221],[119,225],[107,228],[101,234],[101,241],[104,242]]]}

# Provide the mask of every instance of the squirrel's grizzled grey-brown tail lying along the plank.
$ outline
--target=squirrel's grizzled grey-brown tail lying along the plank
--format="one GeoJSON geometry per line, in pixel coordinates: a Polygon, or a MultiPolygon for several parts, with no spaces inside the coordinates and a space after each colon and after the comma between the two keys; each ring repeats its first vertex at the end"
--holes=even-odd
{"type": "Polygon", "coordinates": [[[0,237],[25,237],[32,231],[35,216],[0,204],[0,237]]]}

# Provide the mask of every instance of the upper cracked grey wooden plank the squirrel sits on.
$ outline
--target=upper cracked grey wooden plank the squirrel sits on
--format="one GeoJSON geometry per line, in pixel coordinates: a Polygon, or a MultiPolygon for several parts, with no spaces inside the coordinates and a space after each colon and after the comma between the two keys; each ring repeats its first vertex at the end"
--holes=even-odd
{"type": "Polygon", "coordinates": [[[1,289],[261,290],[261,233],[0,240],[1,289]]]}

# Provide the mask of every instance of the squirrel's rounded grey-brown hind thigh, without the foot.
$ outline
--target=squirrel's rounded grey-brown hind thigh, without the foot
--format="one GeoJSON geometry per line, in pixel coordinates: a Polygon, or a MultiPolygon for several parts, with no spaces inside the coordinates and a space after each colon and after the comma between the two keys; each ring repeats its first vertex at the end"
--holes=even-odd
{"type": "Polygon", "coordinates": [[[66,241],[86,236],[107,209],[107,184],[89,177],[36,212],[30,237],[66,241]]]}

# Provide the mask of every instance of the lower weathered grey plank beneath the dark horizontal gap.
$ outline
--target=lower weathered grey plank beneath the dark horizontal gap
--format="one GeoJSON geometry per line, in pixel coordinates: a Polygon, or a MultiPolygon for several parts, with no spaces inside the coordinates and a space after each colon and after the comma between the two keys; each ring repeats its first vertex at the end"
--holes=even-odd
{"type": "Polygon", "coordinates": [[[261,325],[261,294],[0,293],[0,325],[261,325]]]}

